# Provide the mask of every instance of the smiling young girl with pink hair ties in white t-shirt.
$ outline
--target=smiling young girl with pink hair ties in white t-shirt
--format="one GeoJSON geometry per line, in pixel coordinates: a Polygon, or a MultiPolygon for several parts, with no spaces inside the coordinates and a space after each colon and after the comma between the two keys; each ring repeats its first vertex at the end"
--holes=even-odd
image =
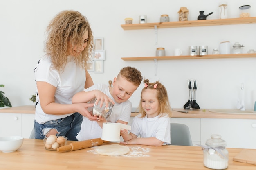
{"type": "Polygon", "coordinates": [[[121,144],[141,144],[162,146],[171,143],[170,114],[171,106],[166,88],[159,81],[149,83],[141,92],[139,112],[132,122],[130,134],[121,130],[124,142],[121,144]],[[138,138],[138,136],[141,136],[138,138]]]}

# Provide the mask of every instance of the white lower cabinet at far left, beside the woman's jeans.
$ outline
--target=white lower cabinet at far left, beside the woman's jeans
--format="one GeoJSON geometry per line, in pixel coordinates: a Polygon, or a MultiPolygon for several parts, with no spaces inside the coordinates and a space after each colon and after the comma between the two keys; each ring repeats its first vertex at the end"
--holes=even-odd
{"type": "Polygon", "coordinates": [[[29,138],[34,118],[34,114],[0,113],[0,137],[17,135],[29,138]]]}

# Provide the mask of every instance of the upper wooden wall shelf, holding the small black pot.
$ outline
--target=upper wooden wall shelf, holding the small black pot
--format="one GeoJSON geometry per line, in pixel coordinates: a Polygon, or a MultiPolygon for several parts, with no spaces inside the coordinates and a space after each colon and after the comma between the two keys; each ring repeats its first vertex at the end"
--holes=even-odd
{"type": "Polygon", "coordinates": [[[233,24],[252,24],[256,23],[256,17],[247,18],[228,18],[218,20],[193,20],[193,21],[177,21],[177,22],[156,22],[146,24],[124,24],[121,27],[124,30],[154,29],[157,28],[177,28],[191,26],[215,26],[215,25],[233,25],[233,24]]]}

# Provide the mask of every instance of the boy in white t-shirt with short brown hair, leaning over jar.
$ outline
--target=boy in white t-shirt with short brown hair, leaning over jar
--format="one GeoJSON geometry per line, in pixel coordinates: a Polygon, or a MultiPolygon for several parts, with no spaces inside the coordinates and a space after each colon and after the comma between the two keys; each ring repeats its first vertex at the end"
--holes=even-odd
{"type": "MultiPolygon", "coordinates": [[[[93,85],[75,94],[72,98],[72,103],[89,102],[94,97],[98,101],[100,98],[101,102],[104,100],[107,103],[110,98],[115,102],[115,105],[113,105],[112,113],[107,118],[107,121],[128,124],[132,109],[132,104],[128,99],[139,87],[141,81],[142,76],[139,70],[130,66],[124,67],[120,70],[117,77],[114,78],[113,87],[105,84],[93,85]]],[[[100,138],[103,122],[106,122],[104,118],[99,121],[91,121],[83,117],[81,130],[76,136],[76,139],[81,141],[100,138]]]]}

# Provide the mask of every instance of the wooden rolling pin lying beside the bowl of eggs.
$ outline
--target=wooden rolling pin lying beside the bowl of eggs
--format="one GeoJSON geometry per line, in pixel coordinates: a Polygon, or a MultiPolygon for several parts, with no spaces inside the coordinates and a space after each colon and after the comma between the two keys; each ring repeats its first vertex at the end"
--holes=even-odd
{"type": "Polygon", "coordinates": [[[57,152],[65,152],[65,151],[73,151],[73,150],[79,150],[84,148],[90,148],[92,146],[99,146],[107,142],[108,141],[101,140],[101,138],[72,142],[69,145],[65,145],[57,148],[57,152]]]}

